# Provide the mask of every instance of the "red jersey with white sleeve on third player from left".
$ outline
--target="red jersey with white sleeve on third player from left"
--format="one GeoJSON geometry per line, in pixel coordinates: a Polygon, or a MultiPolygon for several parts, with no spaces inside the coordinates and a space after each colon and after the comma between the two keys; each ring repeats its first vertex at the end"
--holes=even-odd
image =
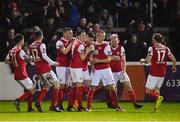
{"type": "Polygon", "coordinates": [[[64,38],[61,38],[56,42],[56,50],[57,50],[57,62],[60,64],[59,66],[62,67],[69,67],[70,66],[70,60],[71,60],[71,52],[64,55],[60,49],[65,47],[67,48],[71,42],[68,40],[65,40],[64,38]]]}

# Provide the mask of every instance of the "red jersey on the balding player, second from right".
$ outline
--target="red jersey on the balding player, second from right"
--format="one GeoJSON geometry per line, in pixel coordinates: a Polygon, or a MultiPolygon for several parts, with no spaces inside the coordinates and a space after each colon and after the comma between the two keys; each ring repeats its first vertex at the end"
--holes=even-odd
{"type": "MultiPolygon", "coordinates": [[[[111,51],[112,51],[112,56],[124,56],[125,55],[125,51],[123,46],[121,45],[117,45],[116,48],[112,48],[111,47],[111,51]]],[[[120,72],[122,71],[122,64],[121,64],[121,60],[111,60],[110,62],[110,67],[112,72],[120,72]]]]}

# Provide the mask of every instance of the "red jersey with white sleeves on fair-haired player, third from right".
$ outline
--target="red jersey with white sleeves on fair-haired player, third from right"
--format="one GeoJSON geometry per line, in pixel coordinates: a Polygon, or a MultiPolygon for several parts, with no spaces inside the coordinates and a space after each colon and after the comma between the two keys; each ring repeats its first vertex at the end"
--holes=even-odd
{"type": "MultiPolygon", "coordinates": [[[[106,59],[107,56],[111,55],[111,47],[108,43],[103,42],[101,44],[95,44],[95,51],[93,58],[106,59]]],[[[97,63],[94,64],[96,70],[109,68],[109,63],[97,63]]]]}

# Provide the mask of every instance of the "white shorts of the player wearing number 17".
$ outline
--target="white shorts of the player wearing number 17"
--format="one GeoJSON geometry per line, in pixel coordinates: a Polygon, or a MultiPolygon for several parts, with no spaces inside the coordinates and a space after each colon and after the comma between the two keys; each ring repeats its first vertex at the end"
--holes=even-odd
{"type": "Polygon", "coordinates": [[[148,75],[146,88],[148,89],[161,88],[163,81],[164,81],[164,77],[156,77],[156,76],[148,75]]]}

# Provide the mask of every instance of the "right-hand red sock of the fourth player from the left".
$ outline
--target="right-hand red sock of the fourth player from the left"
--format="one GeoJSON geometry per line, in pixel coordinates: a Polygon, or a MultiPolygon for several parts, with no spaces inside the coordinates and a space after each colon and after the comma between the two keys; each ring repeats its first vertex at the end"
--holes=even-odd
{"type": "Polygon", "coordinates": [[[82,107],[83,89],[84,86],[78,86],[76,89],[76,99],[78,100],[78,107],[82,107]]]}

